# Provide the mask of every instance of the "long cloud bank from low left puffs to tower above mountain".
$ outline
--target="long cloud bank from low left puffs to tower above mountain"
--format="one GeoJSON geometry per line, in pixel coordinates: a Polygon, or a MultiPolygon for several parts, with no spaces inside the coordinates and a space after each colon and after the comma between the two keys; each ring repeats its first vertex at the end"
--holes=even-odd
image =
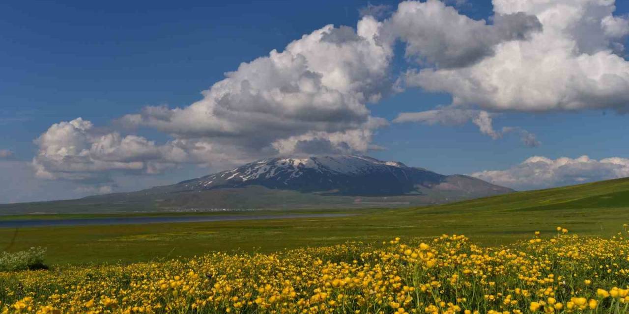
{"type": "MultiPolygon", "coordinates": [[[[392,91],[392,50],[377,41],[381,23],[325,26],[282,52],[242,63],[182,108],[148,106],[117,122],[152,127],[173,139],[156,144],[103,133],[81,118],[53,124],[36,139],[40,178],[103,185],[114,173],[155,174],[186,163],[231,166],[275,154],[367,151],[387,121],[366,104],[392,91]]],[[[94,187],[89,187],[94,188],[94,187]]]]}

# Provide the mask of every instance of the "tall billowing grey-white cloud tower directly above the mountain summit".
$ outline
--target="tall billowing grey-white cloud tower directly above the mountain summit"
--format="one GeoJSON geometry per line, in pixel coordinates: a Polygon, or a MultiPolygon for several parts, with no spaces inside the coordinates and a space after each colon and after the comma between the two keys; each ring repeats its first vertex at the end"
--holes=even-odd
{"type": "Polygon", "coordinates": [[[190,106],[146,107],[120,122],[260,154],[271,153],[278,141],[309,134],[360,134],[331,142],[360,150],[368,144],[361,141],[370,140],[363,135],[386,124],[365,106],[391,92],[392,50],[377,40],[380,27],[372,16],[361,19],[357,30],[325,26],[282,52],[242,63],[190,106]]]}

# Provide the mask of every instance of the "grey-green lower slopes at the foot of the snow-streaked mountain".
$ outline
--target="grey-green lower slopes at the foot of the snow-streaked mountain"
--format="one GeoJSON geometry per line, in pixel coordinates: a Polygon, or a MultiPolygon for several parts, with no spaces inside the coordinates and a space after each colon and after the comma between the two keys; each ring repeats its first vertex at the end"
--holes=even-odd
{"type": "Polygon", "coordinates": [[[131,193],[114,193],[51,202],[0,204],[0,215],[16,214],[103,214],[130,212],[169,212],[181,208],[375,208],[425,206],[487,195],[478,191],[460,192],[430,190],[421,194],[388,197],[353,197],[321,195],[264,187],[221,188],[193,192],[163,192],[160,188],[131,193]]]}

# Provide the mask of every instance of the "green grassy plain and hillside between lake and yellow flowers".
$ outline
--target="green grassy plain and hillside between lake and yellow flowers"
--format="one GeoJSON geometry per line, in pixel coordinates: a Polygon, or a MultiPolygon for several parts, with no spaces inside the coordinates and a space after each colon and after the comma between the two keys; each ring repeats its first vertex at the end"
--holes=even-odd
{"type": "MultiPolygon", "coordinates": [[[[584,236],[610,236],[629,222],[629,179],[431,207],[350,212],[357,215],[0,229],[0,249],[20,251],[33,246],[47,247],[47,263],[52,264],[131,263],[189,257],[209,251],[272,252],[353,240],[379,242],[398,236],[434,237],[443,233],[465,234],[480,244],[497,245],[526,238],[532,230],[550,232],[557,225],[584,236]]],[[[84,215],[88,216],[97,217],[84,215]]]]}

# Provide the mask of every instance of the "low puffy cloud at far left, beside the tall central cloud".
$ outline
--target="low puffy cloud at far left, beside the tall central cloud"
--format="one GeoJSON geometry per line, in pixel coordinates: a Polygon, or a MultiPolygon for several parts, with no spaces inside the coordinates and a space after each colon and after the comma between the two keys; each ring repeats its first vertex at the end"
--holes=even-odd
{"type": "Polygon", "coordinates": [[[80,117],[53,124],[35,140],[36,176],[46,179],[111,181],[111,173],[155,174],[179,163],[203,163],[210,149],[200,141],[155,144],[135,135],[101,134],[80,117]]]}

